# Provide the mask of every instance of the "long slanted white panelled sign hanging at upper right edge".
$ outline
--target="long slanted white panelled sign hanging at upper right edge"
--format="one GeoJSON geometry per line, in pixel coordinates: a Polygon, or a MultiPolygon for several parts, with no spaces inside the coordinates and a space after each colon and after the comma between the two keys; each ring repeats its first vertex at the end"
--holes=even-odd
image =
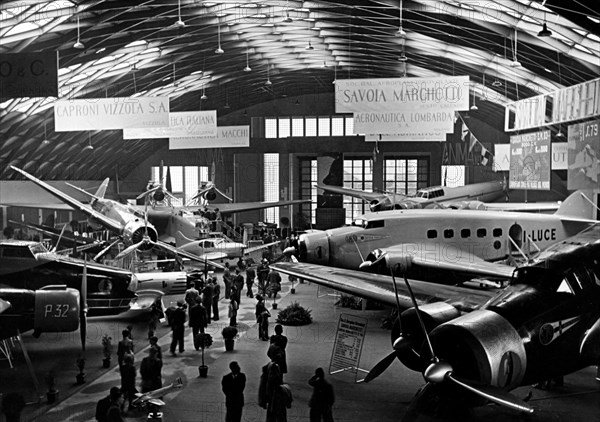
{"type": "Polygon", "coordinates": [[[515,131],[600,115],[600,78],[508,103],[504,130],[515,131]]]}

